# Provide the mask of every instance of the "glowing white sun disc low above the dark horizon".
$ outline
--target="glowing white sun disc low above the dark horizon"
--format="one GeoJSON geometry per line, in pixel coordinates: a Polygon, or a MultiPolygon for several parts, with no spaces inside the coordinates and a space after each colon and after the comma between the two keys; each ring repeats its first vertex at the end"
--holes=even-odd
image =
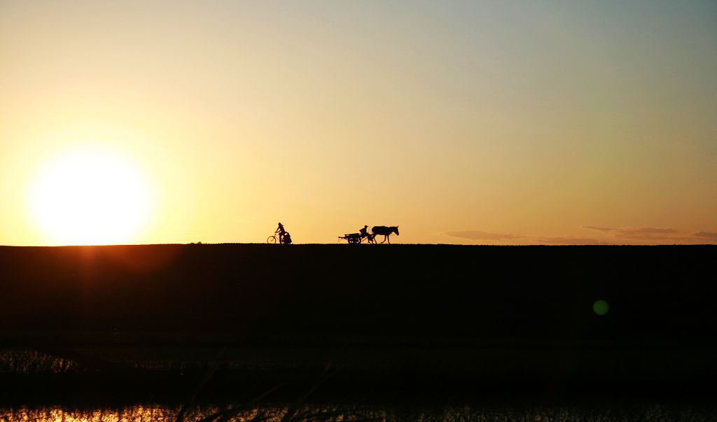
{"type": "Polygon", "coordinates": [[[151,194],[141,171],[120,155],[75,150],[39,171],[30,208],[57,244],[118,244],[146,224],[151,194]]]}

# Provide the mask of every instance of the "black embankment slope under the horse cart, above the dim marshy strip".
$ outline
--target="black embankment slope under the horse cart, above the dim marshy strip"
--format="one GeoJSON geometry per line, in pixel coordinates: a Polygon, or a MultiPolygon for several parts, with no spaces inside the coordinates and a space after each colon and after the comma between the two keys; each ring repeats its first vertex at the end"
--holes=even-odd
{"type": "Polygon", "coordinates": [[[0,249],[3,330],[711,342],[713,246],[0,249]],[[610,310],[595,315],[597,299],[610,310]]]}

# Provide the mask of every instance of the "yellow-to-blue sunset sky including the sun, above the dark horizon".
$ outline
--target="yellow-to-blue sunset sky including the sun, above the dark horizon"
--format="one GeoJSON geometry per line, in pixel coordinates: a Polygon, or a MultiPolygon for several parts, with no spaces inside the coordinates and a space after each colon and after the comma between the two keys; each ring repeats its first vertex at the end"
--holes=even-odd
{"type": "Polygon", "coordinates": [[[0,244],[717,243],[716,75],[714,1],[2,0],[0,244]]]}

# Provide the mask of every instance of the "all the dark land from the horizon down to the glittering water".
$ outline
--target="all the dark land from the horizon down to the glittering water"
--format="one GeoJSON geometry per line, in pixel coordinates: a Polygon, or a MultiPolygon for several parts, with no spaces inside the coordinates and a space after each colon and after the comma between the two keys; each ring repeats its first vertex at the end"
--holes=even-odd
{"type": "Polygon", "coordinates": [[[699,397],[717,375],[716,252],[0,247],[0,396],[182,400],[221,364],[205,389],[212,400],[310,384],[331,362],[331,400],[699,397]],[[597,299],[607,315],[593,312],[597,299]]]}

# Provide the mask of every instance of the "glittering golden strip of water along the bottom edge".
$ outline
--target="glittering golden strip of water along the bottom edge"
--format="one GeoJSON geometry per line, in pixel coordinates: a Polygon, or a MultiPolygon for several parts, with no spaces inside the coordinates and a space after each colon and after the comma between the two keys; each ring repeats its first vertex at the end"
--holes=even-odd
{"type": "MultiPolygon", "coordinates": [[[[226,407],[206,406],[186,413],[184,421],[201,421],[226,407]]],[[[0,408],[0,422],[171,422],[179,414],[180,406],[128,406],[125,408],[72,409],[64,407],[0,408]]],[[[665,408],[659,404],[635,408],[472,408],[447,407],[437,409],[391,409],[370,407],[315,406],[303,408],[308,417],[289,418],[290,421],[713,421],[713,411],[691,408],[665,408]]],[[[281,421],[286,407],[255,408],[240,413],[231,421],[281,421]]],[[[304,413],[305,414],[305,413],[304,413]]]]}

